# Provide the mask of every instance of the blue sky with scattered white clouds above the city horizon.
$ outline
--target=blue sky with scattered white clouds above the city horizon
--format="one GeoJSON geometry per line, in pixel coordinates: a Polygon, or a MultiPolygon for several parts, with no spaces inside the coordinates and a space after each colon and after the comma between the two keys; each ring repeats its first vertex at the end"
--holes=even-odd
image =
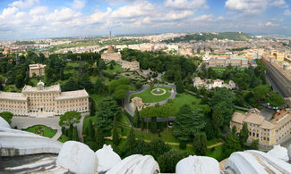
{"type": "Polygon", "coordinates": [[[243,31],[291,36],[291,0],[0,0],[0,40],[243,31]]]}

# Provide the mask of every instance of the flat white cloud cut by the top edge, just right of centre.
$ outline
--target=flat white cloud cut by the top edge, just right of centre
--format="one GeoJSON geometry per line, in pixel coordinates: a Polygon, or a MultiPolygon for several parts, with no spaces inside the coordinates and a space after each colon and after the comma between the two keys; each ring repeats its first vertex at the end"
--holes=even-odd
{"type": "Polygon", "coordinates": [[[166,0],[166,7],[172,7],[175,9],[198,9],[208,8],[206,0],[166,0]]]}

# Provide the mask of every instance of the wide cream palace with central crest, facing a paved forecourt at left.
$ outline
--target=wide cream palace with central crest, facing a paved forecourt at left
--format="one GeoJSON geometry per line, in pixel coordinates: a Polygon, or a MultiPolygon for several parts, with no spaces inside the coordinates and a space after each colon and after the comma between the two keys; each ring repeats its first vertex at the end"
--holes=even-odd
{"type": "Polygon", "coordinates": [[[0,112],[14,115],[47,117],[64,112],[89,112],[89,95],[85,89],[61,92],[60,85],[45,87],[25,86],[21,93],[0,92],[0,112]]]}

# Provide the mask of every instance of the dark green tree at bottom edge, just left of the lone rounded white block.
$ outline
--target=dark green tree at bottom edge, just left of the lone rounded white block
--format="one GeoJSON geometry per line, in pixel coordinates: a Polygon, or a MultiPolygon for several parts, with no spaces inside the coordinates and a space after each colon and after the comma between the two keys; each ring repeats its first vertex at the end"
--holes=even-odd
{"type": "Polygon", "coordinates": [[[162,173],[175,173],[175,165],[184,158],[182,153],[172,149],[158,157],[158,165],[162,173]]]}

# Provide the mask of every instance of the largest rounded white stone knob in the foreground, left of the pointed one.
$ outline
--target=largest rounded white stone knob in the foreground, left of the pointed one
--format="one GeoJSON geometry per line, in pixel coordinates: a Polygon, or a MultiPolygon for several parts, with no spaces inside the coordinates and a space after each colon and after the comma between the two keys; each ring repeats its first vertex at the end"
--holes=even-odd
{"type": "Polygon", "coordinates": [[[56,164],[74,173],[95,174],[98,158],[88,145],[67,141],[57,156],[56,164]]]}

